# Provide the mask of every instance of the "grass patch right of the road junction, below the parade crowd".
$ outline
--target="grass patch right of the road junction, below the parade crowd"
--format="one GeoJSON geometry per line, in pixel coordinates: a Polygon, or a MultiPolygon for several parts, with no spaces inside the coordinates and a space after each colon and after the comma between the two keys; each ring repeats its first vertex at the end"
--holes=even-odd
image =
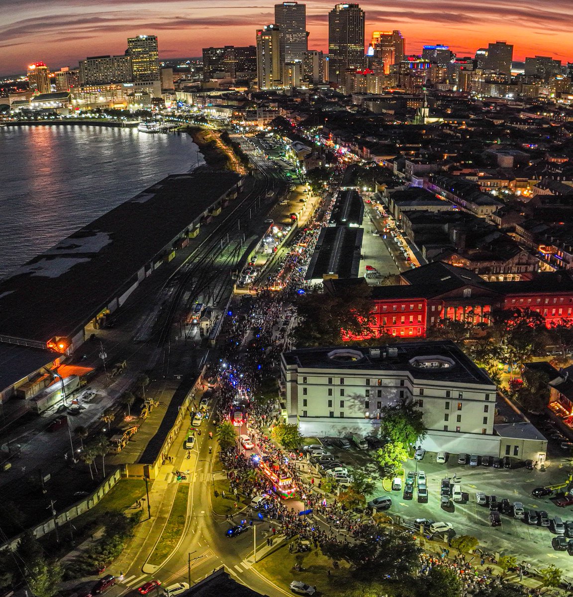
{"type": "Polygon", "coordinates": [[[355,580],[348,573],[349,565],[340,562],[340,567],[334,568],[332,560],[322,555],[320,549],[289,553],[288,543],[285,543],[275,552],[264,556],[255,566],[258,572],[284,590],[288,590],[293,580],[301,580],[315,586],[322,595],[338,597],[356,586],[355,580]],[[297,563],[303,568],[300,572],[294,570],[297,563]]]}

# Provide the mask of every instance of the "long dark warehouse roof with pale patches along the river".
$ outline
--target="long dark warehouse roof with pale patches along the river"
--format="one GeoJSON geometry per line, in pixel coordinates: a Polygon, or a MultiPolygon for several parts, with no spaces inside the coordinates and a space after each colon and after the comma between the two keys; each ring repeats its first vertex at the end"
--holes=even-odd
{"type": "Polygon", "coordinates": [[[168,176],[28,261],[0,282],[0,336],[44,344],[73,336],[240,179],[168,176]]]}

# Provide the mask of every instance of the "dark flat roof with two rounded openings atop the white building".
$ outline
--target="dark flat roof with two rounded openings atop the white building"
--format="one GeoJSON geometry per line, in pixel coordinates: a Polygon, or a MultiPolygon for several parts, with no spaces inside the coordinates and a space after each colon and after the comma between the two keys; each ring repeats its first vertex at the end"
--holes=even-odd
{"type": "Polygon", "coordinates": [[[449,340],[401,342],[378,347],[303,348],[283,353],[282,359],[287,367],[305,370],[407,371],[417,379],[486,384],[495,393],[495,384],[488,374],[449,340]],[[421,365],[436,362],[441,366],[421,365]]]}

